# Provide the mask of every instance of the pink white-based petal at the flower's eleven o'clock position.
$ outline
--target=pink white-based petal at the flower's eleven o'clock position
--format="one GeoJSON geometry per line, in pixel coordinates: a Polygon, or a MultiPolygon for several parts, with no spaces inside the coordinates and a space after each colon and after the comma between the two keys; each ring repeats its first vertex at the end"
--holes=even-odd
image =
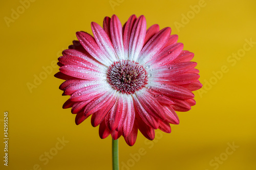
{"type": "Polygon", "coordinates": [[[96,22],[91,24],[94,38],[100,50],[113,62],[118,61],[112,42],[105,31],[96,22]]]}

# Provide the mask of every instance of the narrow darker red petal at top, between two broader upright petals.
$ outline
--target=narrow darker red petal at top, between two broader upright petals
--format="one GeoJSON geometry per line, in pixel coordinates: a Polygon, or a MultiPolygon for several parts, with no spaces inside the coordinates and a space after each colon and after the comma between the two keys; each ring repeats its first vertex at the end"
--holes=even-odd
{"type": "Polygon", "coordinates": [[[129,58],[129,43],[131,39],[132,30],[134,27],[134,24],[137,20],[136,15],[130,16],[130,18],[127,20],[124,30],[123,30],[123,48],[124,48],[124,55],[125,59],[129,58]]]}

